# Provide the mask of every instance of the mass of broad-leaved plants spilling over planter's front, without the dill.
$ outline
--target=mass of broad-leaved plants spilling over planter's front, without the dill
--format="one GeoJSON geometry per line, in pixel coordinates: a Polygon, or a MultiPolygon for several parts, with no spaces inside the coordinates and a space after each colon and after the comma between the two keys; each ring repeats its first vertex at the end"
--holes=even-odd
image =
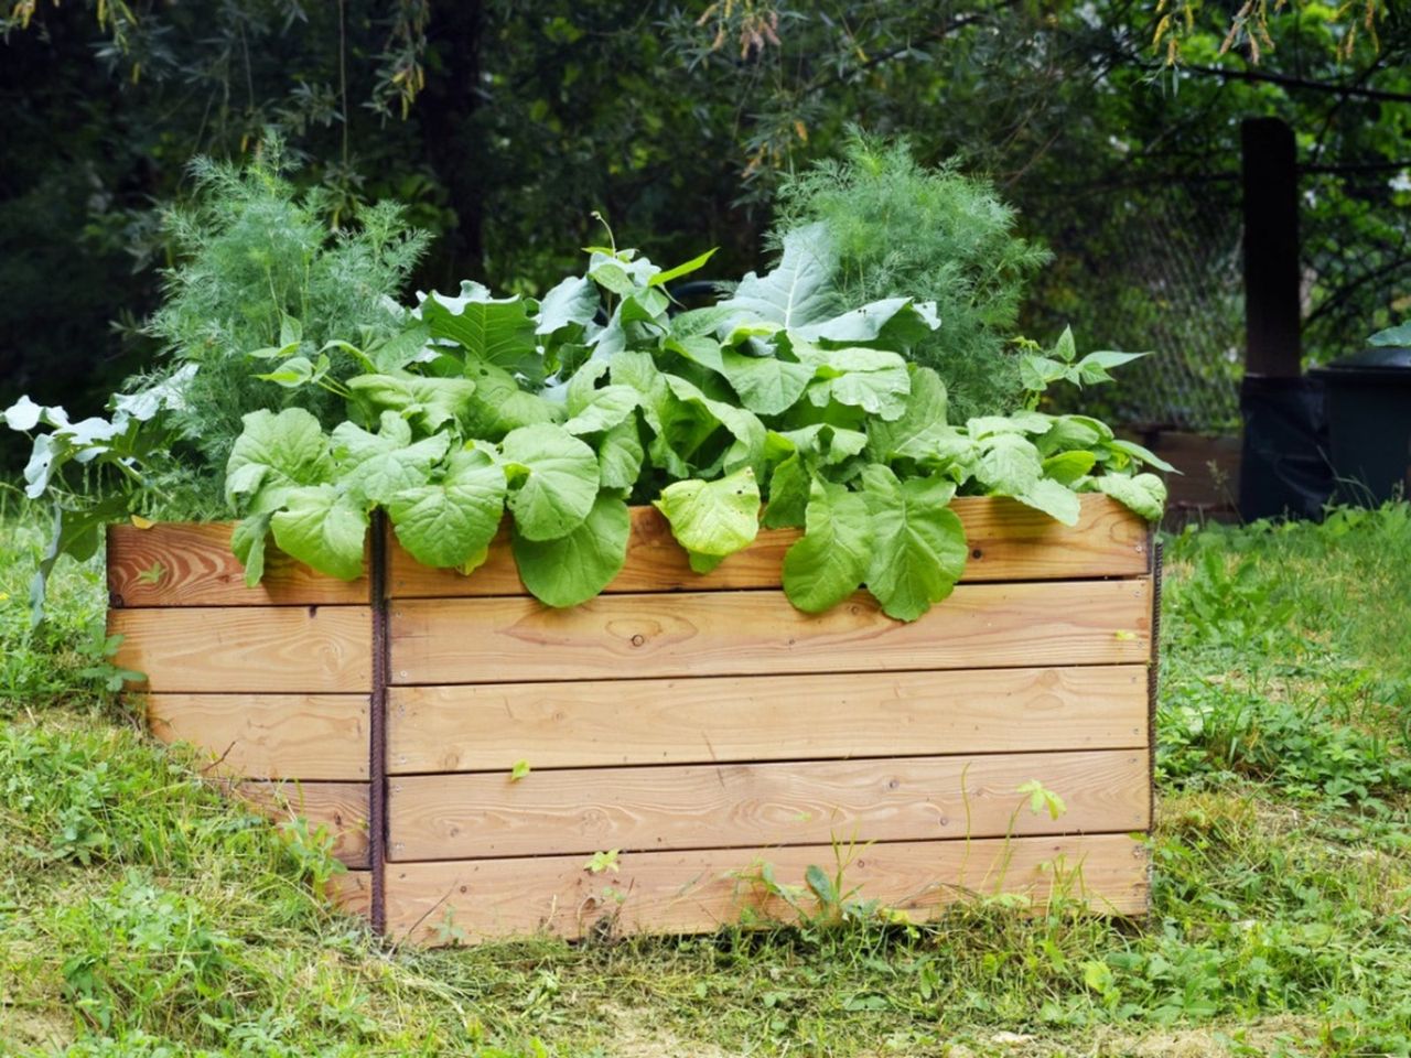
{"type": "MultiPolygon", "coordinates": [[[[823,238],[800,229],[776,269],[674,316],[662,276],[706,255],[663,272],[598,247],[543,300],[466,284],[422,298],[420,340],[392,343],[395,355],[344,343],[358,374],[301,365],[286,384],[336,388],[350,418],[332,432],[302,408],[244,418],[226,490],[244,515],[247,578],[262,573],[267,535],[358,576],[377,508],[415,559],[470,573],[508,515],[525,585],[570,607],[622,567],[628,504],[649,499],[700,573],[761,525],[800,528],[783,564],[796,607],[824,611],[866,585],[914,621],[964,568],[957,494],[1013,497],[1072,525],[1077,492],[1103,491],[1160,516],[1160,480],[1136,473],[1158,460],[1094,419],[1022,409],[950,425],[940,377],[909,361],[940,326],[935,308],[889,298],[832,315],[823,238]]],[[[1130,358],[1070,364],[1071,348],[1065,333],[1033,360],[1101,381],[1130,358]]],[[[1047,384],[1036,374],[1031,391],[1047,384]]]]}

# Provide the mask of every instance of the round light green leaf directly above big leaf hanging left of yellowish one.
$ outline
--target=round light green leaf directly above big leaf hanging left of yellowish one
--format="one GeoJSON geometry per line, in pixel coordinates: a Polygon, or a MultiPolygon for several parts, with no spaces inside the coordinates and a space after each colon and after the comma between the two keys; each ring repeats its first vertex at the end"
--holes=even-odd
{"type": "Polygon", "coordinates": [[[598,457],[562,426],[511,430],[499,443],[509,511],[528,540],[556,540],[583,525],[598,497],[598,457]]]}

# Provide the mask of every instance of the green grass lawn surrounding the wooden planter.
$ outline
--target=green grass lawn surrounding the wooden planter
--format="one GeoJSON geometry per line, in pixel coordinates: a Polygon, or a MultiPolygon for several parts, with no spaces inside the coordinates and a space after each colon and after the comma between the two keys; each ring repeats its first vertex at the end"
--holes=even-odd
{"type": "Polygon", "coordinates": [[[1168,542],[1146,921],[435,952],[330,911],[317,835],[124,712],[97,563],[30,629],[41,519],[0,506],[3,1054],[1411,1054],[1405,504],[1168,542]]]}

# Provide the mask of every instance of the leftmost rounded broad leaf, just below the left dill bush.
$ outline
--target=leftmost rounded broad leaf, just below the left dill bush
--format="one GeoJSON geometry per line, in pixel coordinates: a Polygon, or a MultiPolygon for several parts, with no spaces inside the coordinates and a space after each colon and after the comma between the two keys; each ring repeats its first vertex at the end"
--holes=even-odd
{"type": "Polygon", "coordinates": [[[243,422],[226,464],[226,499],[231,504],[243,497],[250,513],[264,513],[278,509],[291,490],[332,480],[329,439],[309,412],[261,409],[243,422]]]}

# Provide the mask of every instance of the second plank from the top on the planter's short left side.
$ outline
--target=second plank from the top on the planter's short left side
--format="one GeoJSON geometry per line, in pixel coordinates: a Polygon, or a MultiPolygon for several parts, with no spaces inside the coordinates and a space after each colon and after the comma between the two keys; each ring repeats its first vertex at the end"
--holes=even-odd
{"type": "Polygon", "coordinates": [[[337,693],[373,688],[368,607],[110,609],[116,663],[140,690],[337,693]]]}

